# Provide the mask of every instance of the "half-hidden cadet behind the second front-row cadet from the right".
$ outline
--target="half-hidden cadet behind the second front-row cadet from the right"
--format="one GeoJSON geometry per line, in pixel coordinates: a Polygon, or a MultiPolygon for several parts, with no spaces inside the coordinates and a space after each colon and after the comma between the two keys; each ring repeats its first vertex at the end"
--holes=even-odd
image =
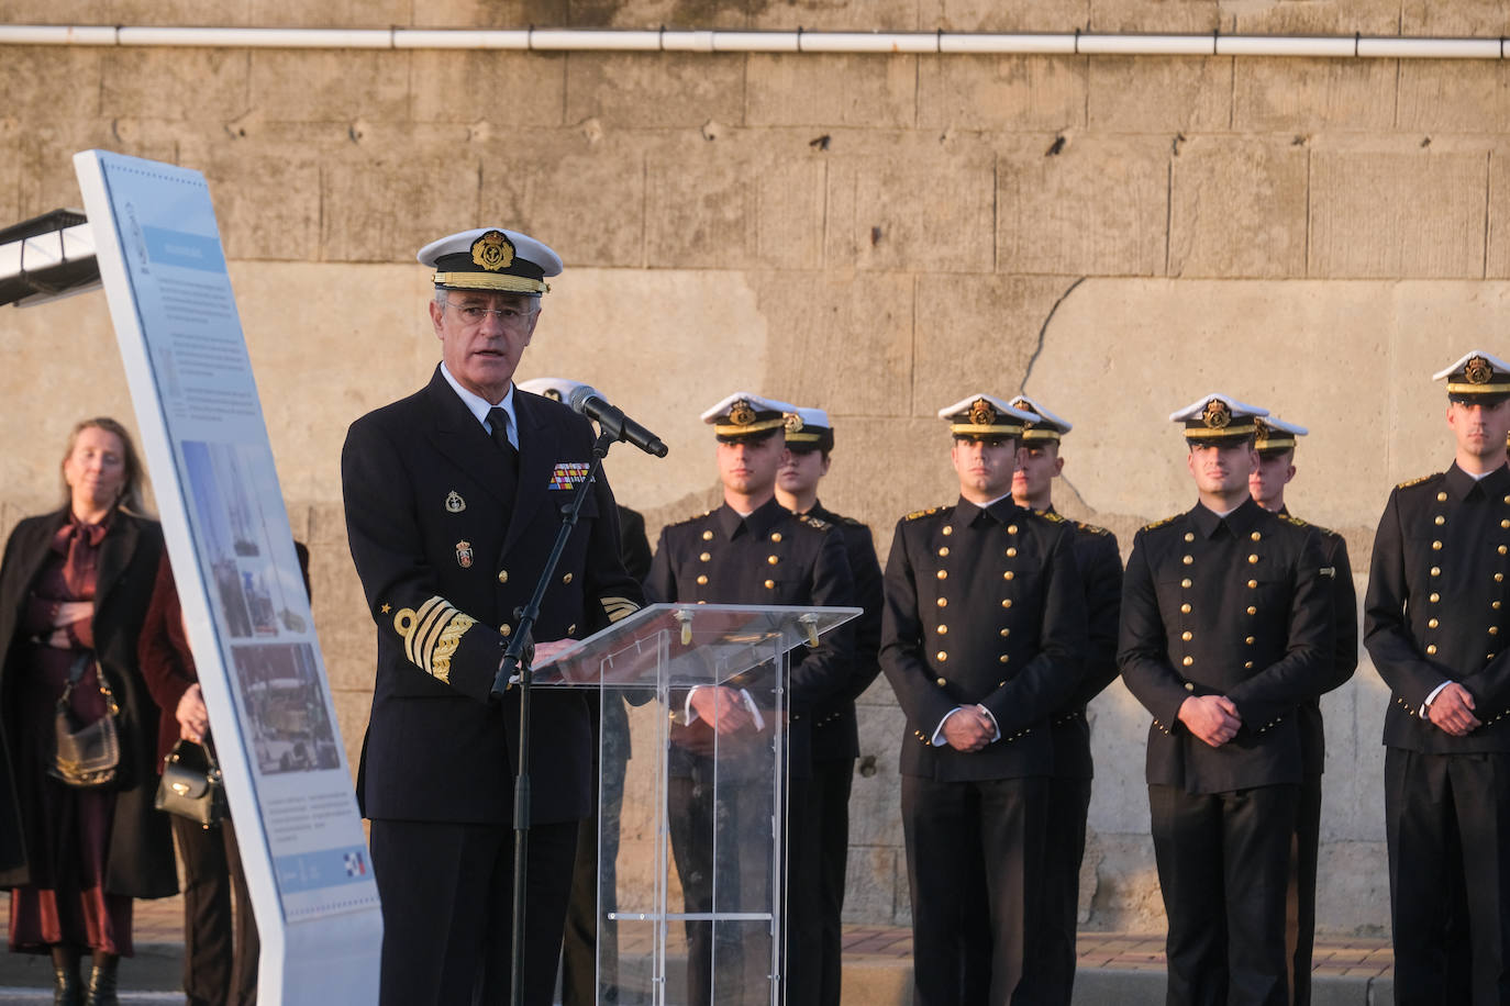
{"type": "MultiPolygon", "coordinates": [[[[1273,415],[1255,419],[1258,468],[1247,477],[1249,495],[1270,513],[1288,514],[1285,486],[1296,477],[1296,437],[1305,427],[1273,415]]],[[[1333,629],[1332,671],[1321,682],[1324,691],[1341,686],[1357,668],[1357,591],[1353,566],[1347,558],[1347,538],[1336,531],[1312,525],[1321,537],[1321,557],[1332,570],[1333,629]]],[[[1305,778],[1296,813],[1296,837],[1290,857],[1290,894],[1285,905],[1285,947],[1290,953],[1290,1001],[1311,1003],[1311,949],[1317,928],[1317,854],[1321,843],[1321,771],[1326,768],[1326,728],[1321,701],[1312,698],[1296,709],[1300,719],[1300,760],[1305,778]]]]}

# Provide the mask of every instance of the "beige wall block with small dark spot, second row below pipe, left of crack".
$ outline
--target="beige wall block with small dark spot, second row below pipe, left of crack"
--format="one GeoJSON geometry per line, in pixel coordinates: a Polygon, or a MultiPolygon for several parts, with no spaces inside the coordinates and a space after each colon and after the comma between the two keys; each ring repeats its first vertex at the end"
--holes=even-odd
{"type": "Polygon", "coordinates": [[[995,172],[983,155],[832,158],[829,268],[989,273],[995,172]]]}

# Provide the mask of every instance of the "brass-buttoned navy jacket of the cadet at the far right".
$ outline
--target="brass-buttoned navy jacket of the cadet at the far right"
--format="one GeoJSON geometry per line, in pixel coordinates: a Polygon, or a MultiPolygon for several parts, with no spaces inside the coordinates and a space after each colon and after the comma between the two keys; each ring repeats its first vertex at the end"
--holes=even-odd
{"type": "Polygon", "coordinates": [[[1510,468],[1453,465],[1398,486],[1374,537],[1364,646],[1391,691],[1385,744],[1428,754],[1510,751],[1510,468]],[[1418,715],[1442,682],[1484,724],[1454,738],[1418,715]]]}

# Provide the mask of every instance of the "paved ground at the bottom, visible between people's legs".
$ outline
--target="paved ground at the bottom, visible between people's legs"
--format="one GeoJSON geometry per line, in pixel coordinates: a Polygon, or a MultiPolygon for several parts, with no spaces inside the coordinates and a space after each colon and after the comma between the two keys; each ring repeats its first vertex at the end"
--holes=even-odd
{"type": "MultiPolygon", "coordinates": [[[[0,894],[0,929],[9,932],[11,897],[0,894]]],[[[183,967],[183,902],[166,897],[137,902],[134,932],[137,956],[122,962],[127,1003],[177,1003],[183,967]],[[143,991],[145,989],[145,991],[143,991]]],[[[1163,934],[1083,932],[1077,1006],[1161,1003],[1164,992],[1163,934]]],[[[636,947],[625,946],[627,956],[636,947]]],[[[888,926],[849,926],[844,931],[846,1003],[908,1006],[911,995],[912,934],[888,926]]],[[[1394,955],[1385,940],[1320,940],[1315,950],[1315,1003],[1368,1006],[1389,1001],[1394,955]]],[[[0,955],[0,1003],[45,1006],[51,973],[44,958],[0,955]]],[[[332,1004],[334,1006],[334,1004],[332,1004]]],[[[362,1006],[362,1004],[352,1004],[362,1006]]]]}

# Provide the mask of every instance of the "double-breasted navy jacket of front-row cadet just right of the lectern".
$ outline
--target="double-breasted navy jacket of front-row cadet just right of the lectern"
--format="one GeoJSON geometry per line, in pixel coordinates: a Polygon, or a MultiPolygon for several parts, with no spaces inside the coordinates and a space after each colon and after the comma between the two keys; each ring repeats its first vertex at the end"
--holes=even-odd
{"type": "Polygon", "coordinates": [[[1048,721],[1081,682],[1086,599],[1072,525],[1012,498],[960,499],[897,523],[886,560],[880,668],[908,718],[901,772],[938,781],[1054,771],[1048,721]],[[1001,739],[933,747],[959,706],[991,710],[1001,739]]]}

